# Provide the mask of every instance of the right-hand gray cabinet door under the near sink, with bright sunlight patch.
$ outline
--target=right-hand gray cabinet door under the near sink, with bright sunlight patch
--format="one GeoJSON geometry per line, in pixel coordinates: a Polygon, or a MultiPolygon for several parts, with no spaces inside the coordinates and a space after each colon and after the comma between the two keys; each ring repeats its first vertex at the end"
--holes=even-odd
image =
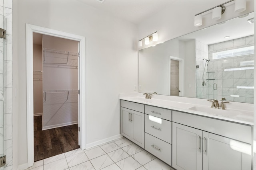
{"type": "Polygon", "coordinates": [[[204,170],[251,170],[251,145],[203,132],[204,170]]]}

